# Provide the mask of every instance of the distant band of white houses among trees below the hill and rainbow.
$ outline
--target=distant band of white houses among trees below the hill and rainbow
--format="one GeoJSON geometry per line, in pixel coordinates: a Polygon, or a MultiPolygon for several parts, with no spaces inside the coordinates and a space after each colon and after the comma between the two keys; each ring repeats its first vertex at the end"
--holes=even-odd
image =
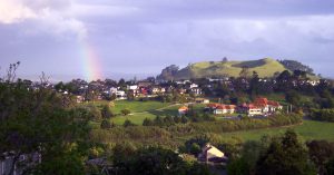
{"type": "MultiPolygon", "coordinates": [[[[111,80],[110,80],[111,81],[111,80]]],[[[274,79],[266,79],[261,78],[259,81],[265,82],[273,82],[276,84],[274,79]]],[[[78,88],[76,93],[71,91],[77,96],[77,103],[81,103],[85,100],[90,100],[87,97],[87,91],[95,93],[95,99],[107,99],[106,97],[114,97],[116,99],[127,99],[129,94],[132,97],[155,97],[159,94],[170,94],[170,93],[178,93],[178,94],[193,94],[195,96],[200,96],[204,94],[205,90],[209,90],[212,95],[217,95],[215,91],[215,86],[217,84],[227,86],[230,90],[234,90],[234,79],[224,77],[224,78],[207,78],[203,81],[195,81],[194,80],[177,80],[177,81],[164,81],[164,80],[140,80],[140,81],[127,81],[124,84],[119,84],[112,81],[112,84],[108,82],[107,80],[97,80],[87,82],[81,79],[72,80],[70,84],[75,85],[78,88]]],[[[249,81],[244,79],[244,84],[248,86],[249,81]]],[[[295,86],[297,85],[312,85],[316,86],[320,84],[320,80],[299,80],[293,81],[295,86]]],[[[68,89],[58,89],[60,93],[69,94],[68,89]]],[[[227,107],[228,108],[228,107],[227,107]]]]}

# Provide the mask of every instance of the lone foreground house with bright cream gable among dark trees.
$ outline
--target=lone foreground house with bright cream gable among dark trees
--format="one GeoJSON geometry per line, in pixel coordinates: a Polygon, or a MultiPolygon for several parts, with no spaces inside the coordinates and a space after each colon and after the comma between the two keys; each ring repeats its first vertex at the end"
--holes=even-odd
{"type": "Polygon", "coordinates": [[[225,163],[227,157],[223,152],[210,144],[206,144],[198,155],[198,161],[206,163],[225,163]]]}

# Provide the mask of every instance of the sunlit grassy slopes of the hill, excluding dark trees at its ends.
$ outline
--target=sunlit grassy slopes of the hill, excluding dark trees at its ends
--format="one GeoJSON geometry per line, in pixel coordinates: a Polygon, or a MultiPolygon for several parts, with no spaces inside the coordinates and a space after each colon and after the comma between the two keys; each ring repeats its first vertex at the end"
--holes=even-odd
{"type": "Polygon", "coordinates": [[[243,67],[249,68],[249,74],[256,71],[259,77],[273,77],[275,72],[282,72],[286,68],[278,61],[265,58],[248,61],[203,61],[189,65],[180,69],[175,79],[203,78],[213,76],[238,77],[243,67]]]}

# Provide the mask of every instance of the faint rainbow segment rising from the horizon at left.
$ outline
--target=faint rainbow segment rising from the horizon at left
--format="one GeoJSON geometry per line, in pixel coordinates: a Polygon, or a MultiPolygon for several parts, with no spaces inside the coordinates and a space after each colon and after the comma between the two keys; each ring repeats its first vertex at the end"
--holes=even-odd
{"type": "Polygon", "coordinates": [[[88,39],[82,39],[80,41],[81,50],[81,62],[84,68],[84,76],[86,80],[97,80],[101,79],[101,66],[98,55],[95,51],[94,45],[91,45],[88,39]]]}

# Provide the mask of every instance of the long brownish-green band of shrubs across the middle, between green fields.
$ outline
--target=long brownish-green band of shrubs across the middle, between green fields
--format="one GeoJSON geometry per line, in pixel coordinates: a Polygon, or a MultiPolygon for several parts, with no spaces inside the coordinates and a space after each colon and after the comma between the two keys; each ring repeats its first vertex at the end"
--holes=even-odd
{"type": "MultiPolygon", "coordinates": [[[[163,120],[161,120],[163,123],[163,120]]],[[[267,127],[278,127],[301,124],[299,115],[275,116],[264,119],[245,118],[240,120],[216,120],[200,121],[160,126],[132,126],[132,127],[114,127],[110,129],[92,129],[90,138],[95,143],[112,144],[121,140],[132,142],[137,145],[160,145],[176,148],[177,137],[186,137],[203,133],[227,133],[246,129],[259,129],[267,127]]]]}

